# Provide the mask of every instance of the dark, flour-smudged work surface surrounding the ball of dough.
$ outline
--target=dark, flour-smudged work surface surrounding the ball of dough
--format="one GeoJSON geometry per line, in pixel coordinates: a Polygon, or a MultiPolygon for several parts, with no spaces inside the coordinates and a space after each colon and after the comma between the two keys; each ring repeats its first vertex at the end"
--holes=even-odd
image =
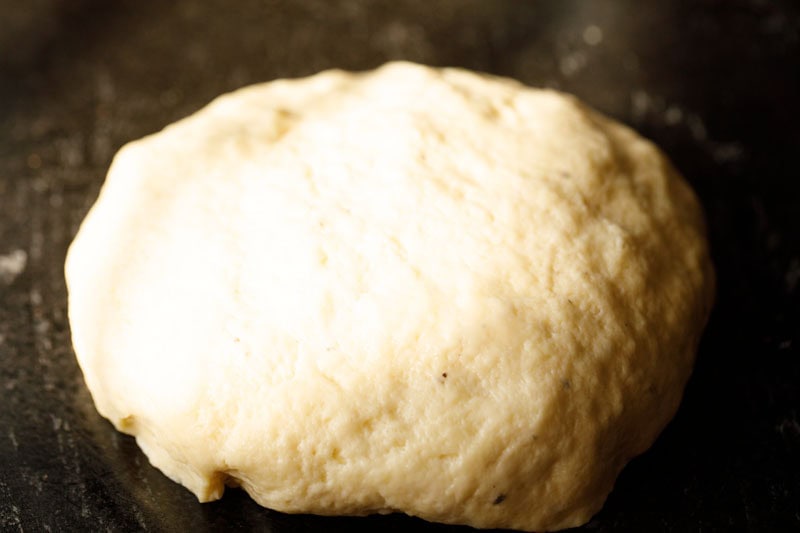
{"type": "Polygon", "coordinates": [[[800,528],[792,1],[0,1],[0,530],[464,531],[199,504],[91,403],[62,267],[114,152],[245,84],[404,58],[577,94],[698,192],[719,278],[682,407],[598,531],[800,528]]]}

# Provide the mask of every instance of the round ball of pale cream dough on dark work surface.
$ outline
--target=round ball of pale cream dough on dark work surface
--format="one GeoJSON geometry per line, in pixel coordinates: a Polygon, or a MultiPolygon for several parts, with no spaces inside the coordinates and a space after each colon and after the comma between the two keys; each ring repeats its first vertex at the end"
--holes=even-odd
{"type": "Polygon", "coordinates": [[[200,500],[523,530],[600,509],[713,294],[650,142],[409,63],[247,87],[128,144],[66,272],[98,410],[200,500]]]}

